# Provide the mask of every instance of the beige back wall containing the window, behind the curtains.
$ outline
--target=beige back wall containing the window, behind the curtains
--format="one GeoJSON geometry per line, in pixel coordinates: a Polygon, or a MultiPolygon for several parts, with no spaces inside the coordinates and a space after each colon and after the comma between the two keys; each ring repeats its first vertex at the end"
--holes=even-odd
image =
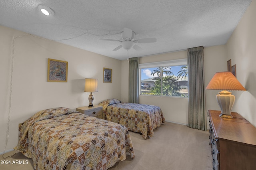
{"type": "MultiPolygon", "coordinates": [[[[186,51],[178,51],[173,53],[165,53],[140,57],[139,63],[152,63],[157,61],[169,61],[174,59],[184,59],[187,57],[186,51]]],[[[227,69],[227,52],[226,45],[218,45],[204,48],[204,73],[206,85],[217,71],[226,71],[227,69]]],[[[122,61],[122,100],[128,101],[128,77],[129,63],[122,61]]],[[[218,91],[206,91],[206,110],[219,110],[216,94],[218,91]]],[[[182,97],[159,97],[140,95],[140,103],[159,106],[166,121],[188,124],[188,98],[182,97]]],[[[208,127],[209,128],[209,127],[208,127]]]]}

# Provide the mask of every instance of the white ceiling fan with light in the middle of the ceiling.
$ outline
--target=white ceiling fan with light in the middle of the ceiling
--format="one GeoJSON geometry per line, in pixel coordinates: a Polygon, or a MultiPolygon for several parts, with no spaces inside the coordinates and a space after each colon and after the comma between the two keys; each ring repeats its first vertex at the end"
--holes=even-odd
{"type": "Polygon", "coordinates": [[[138,40],[134,40],[135,32],[130,30],[129,28],[124,28],[124,31],[122,32],[122,38],[121,40],[111,40],[111,39],[104,39],[101,38],[100,40],[104,41],[114,41],[114,42],[120,42],[121,45],[113,49],[113,51],[116,51],[120,48],[127,49],[127,51],[131,48],[134,48],[136,51],[141,51],[142,48],[136,45],[135,43],[154,43],[156,42],[156,38],[142,38],[138,40]]]}

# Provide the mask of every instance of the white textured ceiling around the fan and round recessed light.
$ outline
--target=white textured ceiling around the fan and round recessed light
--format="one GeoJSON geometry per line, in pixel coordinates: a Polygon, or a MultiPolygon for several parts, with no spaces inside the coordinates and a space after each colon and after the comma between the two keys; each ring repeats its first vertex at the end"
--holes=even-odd
{"type": "Polygon", "coordinates": [[[0,25],[124,60],[203,45],[225,44],[251,0],[0,0],[0,25]],[[55,14],[44,16],[37,6],[55,14]],[[156,38],[112,51],[121,32],[156,38]]]}

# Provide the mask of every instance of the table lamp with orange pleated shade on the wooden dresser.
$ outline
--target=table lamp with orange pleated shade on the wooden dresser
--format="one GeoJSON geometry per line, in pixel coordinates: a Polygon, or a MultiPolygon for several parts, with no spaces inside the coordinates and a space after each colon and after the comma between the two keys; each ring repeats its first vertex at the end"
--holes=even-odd
{"type": "Polygon", "coordinates": [[[223,90],[216,95],[218,105],[220,106],[220,117],[233,118],[231,115],[231,109],[235,102],[235,96],[228,90],[243,90],[246,89],[236,79],[236,77],[230,72],[217,72],[212,77],[210,83],[206,86],[207,90],[223,90]]]}

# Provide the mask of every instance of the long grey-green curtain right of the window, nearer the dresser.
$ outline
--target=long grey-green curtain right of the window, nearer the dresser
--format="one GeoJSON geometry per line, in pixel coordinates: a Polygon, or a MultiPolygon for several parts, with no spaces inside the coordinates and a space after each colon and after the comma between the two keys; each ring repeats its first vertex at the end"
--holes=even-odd
{"type": "Polygon", "coordinates": [[[188,127],[207,130],[204,89],[204,47],[187,49],[188,127]]]}

